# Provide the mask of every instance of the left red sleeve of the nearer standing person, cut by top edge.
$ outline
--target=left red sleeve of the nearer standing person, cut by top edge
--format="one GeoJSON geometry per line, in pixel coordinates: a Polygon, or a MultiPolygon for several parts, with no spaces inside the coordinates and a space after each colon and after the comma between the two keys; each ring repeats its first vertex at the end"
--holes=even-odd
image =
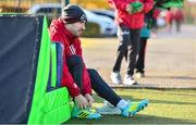
{"type": "Polygon", "coordinates": [[[124,0],[107,0],[109,5],[113,9],[120,9],[122,11],[125,11],[127,2],[124,0]]]}

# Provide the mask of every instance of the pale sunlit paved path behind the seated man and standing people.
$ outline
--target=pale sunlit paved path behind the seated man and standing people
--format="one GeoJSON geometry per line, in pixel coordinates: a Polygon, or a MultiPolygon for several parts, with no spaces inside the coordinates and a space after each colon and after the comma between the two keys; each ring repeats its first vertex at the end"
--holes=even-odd
{"type": "MultiPolygon", "coordinates": [[[[117,38],[84,38],[87,67],[97,68],[112,87],[110,72],[118,46],[117,38]]],[[[122,64],[125,74],[125,62],[122,64]]],[[[196,88],[196,26],[183,25],[182,33],[159,30],[150,38],[146,53],[146,77],[131,88],[196,88]]]]}

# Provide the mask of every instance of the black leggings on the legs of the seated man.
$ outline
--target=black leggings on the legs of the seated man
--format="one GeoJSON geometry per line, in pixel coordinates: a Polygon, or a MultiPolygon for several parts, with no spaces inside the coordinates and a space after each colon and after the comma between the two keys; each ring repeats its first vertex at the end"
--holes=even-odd
{"type": "MultiPolygon", "coordinates": [[[[83,76],[83,61],[78,55],[71,55],[66,59],[69,71],[71,72],[77,86],[83,88],[82,76],[83,76]]],[[[108,86],[108,84],[101,78],[96,70],[87,68],[91,88],[100,96],[113,105],[117,105],[121,98],[108,86]]],[[[83,92],[83,91],[81,91],[83,92]]]]}

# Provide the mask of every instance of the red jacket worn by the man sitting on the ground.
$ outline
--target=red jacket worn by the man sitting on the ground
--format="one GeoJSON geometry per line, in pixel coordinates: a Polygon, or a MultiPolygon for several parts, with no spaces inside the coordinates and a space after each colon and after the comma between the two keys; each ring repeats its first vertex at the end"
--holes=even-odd
{"type": "MultiPolygon", "coordinates": [[[[61,18],[53,20],[51,22],[51,25],[49,27],[50,33],[50,39],[52,41],[59,41],[64,46],[64,57],[63,57],[63,75],[62,75],[62,86],[68,87],[69,92],[72,97],[78,96],[81,93],[81,90],[78,86],[75,84],[68,64],[66,64],[66,58],[70,55],[79,55],[83,59],[82,55],[82,48],[81,48],[81,40],[78,37],[73,36],[65,27],[64,23],[61,21],[61,18]]],[[[85,93],[91,93],[91,84],[90,78],[88,75],[88,72],[86,70],[86,66],[84,64],[83,70],[83,92],[85,93]]]]}

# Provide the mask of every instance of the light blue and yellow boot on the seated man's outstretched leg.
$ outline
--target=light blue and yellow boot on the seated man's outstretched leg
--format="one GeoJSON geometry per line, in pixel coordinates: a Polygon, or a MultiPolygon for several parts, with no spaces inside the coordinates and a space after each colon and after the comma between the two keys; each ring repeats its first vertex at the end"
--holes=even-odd
{"type": "Polygon", "coordinates": [[[128,102],[128,104],[122,109],[121,114],[123,116],[133,116],[140,110],[144,110],[148,105],[149,101],[148,100],[142,100],[139,102],[128,102]]]}

